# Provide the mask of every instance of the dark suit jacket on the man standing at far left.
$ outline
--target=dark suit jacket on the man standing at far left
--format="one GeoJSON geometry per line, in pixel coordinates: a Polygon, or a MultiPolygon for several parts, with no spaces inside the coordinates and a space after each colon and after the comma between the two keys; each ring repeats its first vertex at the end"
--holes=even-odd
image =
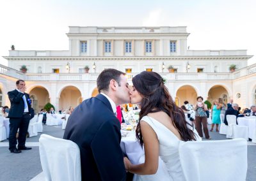
{"type": "Polygon", "coordinates": [[[33,116],[34,112],[33,112],[31,105],[28,101],[29,94],[27,94],[27,93],[23,94],[22,92],[19,92],[16,89],[8,92],[7,94],[10,99],[10,102],[11,102],[11,107],[10,107],[9,114],[8,114],[9,118],[19,118],[19,117],[23,116],[25,106],[24,106],[24,100],[23,100],[22,96],[24,94],[26,96],[29,114],[31,114],[31,117],[34,117],[33,116]]]}

